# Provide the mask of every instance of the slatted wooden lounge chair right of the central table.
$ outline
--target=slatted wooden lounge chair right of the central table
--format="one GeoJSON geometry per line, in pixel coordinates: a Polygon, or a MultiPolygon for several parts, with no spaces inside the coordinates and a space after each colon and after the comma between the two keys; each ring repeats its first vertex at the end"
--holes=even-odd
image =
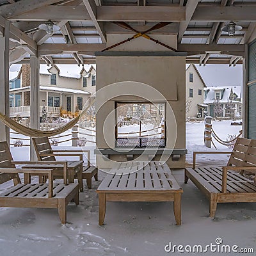
{"type": "Polygon", "coordinates": [[[232,152],[194,152],[193,168],[186,168],[189,179],[210,200],[210,216],[214,217],[218,203],[256,202],[256,183],[242,174],[256,172],[256,140],[238,138],[232,152]],[[227,166],[195,168],[196,154],[231,154],[227,166]]]}

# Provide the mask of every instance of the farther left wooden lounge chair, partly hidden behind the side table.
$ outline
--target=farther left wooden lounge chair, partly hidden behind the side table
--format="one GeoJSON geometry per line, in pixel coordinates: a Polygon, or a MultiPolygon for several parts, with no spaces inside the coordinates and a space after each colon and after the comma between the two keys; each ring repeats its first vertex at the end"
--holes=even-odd
{"type": "Polygon", "coordinates": [[[90,166],[90,150],[52,150],[47,137],[33,138],[32,140],[39,161],[56,161],[56,156],[79,156],[80,161],[83,161],[83,153],[87,154],[87,164],[81,163],[79,165],[81,171],[71,168],[70,164],[74,166],[76,161],[68,161],[68,171],[71,172],[70,182],[74,182],[74,178],[77,178],[80,191],[83,191],[83,179],[86,179],[89,189],[92,188],[92,177],[98,180],[98,169],[95,166],[90,166]]]}

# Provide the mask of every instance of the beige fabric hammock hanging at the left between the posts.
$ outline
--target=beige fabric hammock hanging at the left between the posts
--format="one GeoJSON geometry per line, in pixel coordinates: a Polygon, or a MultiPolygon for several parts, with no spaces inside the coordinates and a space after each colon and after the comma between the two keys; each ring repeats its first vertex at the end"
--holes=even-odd
{"type": "Polygon", "coordinates": [[[45,136],[51,137],[72,128],[79,121],[81,116],[84,115],[84,113],[93,105],[94,102],[95,102],[95,99],[93,99],[92,102],[88,103],[88,106],[81,112],[81,114],[76,118],[74,118],[72,121],[70,121],[68,124],[63,125],[62,127],[58,129],[54,129],[52,131],[41,131],[41,130],[26,127],[24,125],[21,125],[15,122],[10,117],[3,115],[2,113],[0,113],[0,120],[9,128],[13,129],[16,132],[19,132],[20,134],[26,135],[28,137],[31,137],[31,138],[42,138],[45,136]]]}

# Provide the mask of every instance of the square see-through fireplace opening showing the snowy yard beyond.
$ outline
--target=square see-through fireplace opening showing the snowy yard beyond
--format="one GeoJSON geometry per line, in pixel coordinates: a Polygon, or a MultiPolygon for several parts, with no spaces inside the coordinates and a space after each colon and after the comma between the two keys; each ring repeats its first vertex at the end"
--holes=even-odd
{"type": "Polygon", "coordinates": [[[165,115],[165,103],[116,102],[116,147],[165,147],[165,115]]]}

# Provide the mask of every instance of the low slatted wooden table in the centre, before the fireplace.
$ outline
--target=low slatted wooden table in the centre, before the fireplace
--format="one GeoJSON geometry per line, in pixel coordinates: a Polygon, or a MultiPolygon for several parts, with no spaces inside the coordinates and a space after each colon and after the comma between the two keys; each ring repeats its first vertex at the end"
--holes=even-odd
{"type": "Polygon", "coordinates": [[[182,188],[167,164],[126,162],[112,169],[97,189],[99,225],[103,225],[106,202],[173,202],[177,225],[181,224],[182,188]]]}

